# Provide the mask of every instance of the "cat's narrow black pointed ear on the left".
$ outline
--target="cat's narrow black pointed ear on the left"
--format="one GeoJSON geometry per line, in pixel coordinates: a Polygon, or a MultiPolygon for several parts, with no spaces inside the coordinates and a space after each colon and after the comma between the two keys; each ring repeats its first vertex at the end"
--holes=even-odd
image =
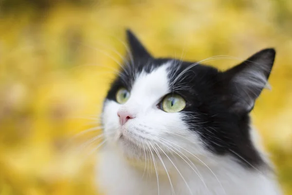
{"type": "Polygon", "coordinates": [[[129,30],[127,29],[127,40],[128,46],[130,49],[130,58],[133,58],[134,61],[139,61],[141,59],[151,59],[150,53],[146,50],[143,44],[139,41],[139,39],[129,30]]]}

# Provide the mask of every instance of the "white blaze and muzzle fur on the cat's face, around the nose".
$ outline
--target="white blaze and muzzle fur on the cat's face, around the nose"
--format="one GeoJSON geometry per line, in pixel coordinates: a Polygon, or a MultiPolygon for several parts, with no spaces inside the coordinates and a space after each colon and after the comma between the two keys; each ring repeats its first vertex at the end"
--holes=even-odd
{"type": "MultiPolygon", "coordinates": [[[[182,120],[182,113],[166,113],[157,107],[161,99],[170,92],[167,71],[170,65],[171,62],[168,62],[150,73],[138,74],[130,91],[130,98],[125,104],[121,105],[113,100],[106,101],[103,123],[108,140],[115,143],[123,135],[126,141],[138,145],[144,139],[152,144],[159,144],[159,138],[163,137],[182,145],[184,143],[178,142],[182,135],[192,136],[193,140],[197,138],[195,133],[188,131],[187,125],[182,120]],[[129,113],[133,118],[121,125],[118,112],[129,113]]],[[[164,148],[164,145],[161,147],[164,148]]]]}

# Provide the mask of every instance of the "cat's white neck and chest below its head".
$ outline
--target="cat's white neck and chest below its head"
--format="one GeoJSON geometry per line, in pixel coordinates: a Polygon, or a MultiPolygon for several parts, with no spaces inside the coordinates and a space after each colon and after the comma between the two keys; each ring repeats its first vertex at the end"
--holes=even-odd
{"type": "Polygon", "coordinates": [[[216,163],[170,159],[172,162],[164,159],[163,166],[146,163],[141,169],[112,147],[105,146],[98,157],[98,186],[107,195],[156,195],[158,185],[160,195],[280,194],[273,174],[265,168],[245,168],[228,157],[217,158],[216,163]]]}

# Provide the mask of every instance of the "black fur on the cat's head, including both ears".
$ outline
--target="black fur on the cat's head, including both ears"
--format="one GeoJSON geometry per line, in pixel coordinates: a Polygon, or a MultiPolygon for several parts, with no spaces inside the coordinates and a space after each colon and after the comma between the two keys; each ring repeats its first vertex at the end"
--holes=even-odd
{"type": "Polygon", "coordinates": [[[127,37],[131,63],[121,69],[107,99],[115,100],[120,87],[130,90],[142,71],[151,72],[171,60],[170,89],[186,100],[187,106],[181,111],[183,120],[201,137],[206,149],[217,155],[234,156],[249,168],[264,165],[251,141],[249,113],[269,78],[274,49],[262,50],[221,72],[196,62],[153,58],[129,30],[127,37]]]}

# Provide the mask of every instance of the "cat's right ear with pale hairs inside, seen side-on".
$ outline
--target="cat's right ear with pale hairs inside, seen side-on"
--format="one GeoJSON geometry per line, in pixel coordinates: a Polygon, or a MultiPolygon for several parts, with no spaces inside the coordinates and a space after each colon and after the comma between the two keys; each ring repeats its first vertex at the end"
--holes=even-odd
{"type": "Polygon", "coordinates": [[[268,84],[275,50],[264,49],[224,72],[232,98],[231,109],[238,114],[250,112],[256,98],[268,84]]]}

